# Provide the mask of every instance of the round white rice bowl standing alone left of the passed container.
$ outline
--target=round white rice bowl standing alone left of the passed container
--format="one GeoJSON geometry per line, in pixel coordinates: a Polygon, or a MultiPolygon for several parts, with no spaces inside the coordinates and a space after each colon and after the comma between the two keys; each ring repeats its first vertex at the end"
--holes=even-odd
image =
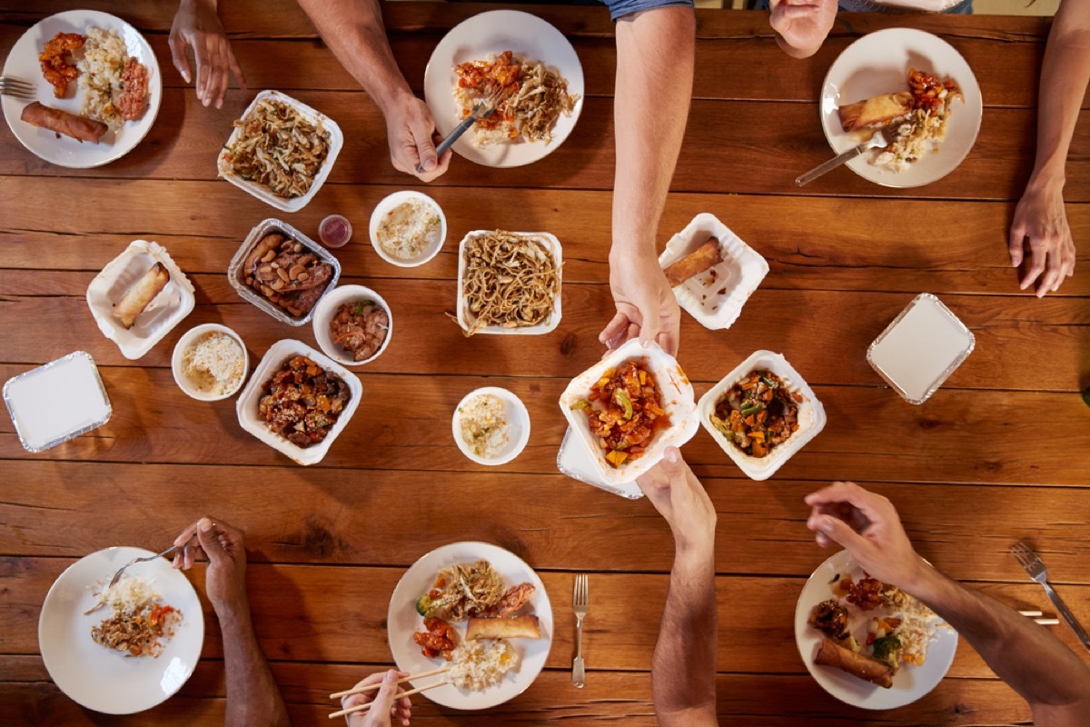
{"type": "Polygon", "coordinates": [[[506,464],[530,441],[530,412],[511,391],[486,386],[458,402],[451,428],[465,457],[477,464],[506,464]]]}

